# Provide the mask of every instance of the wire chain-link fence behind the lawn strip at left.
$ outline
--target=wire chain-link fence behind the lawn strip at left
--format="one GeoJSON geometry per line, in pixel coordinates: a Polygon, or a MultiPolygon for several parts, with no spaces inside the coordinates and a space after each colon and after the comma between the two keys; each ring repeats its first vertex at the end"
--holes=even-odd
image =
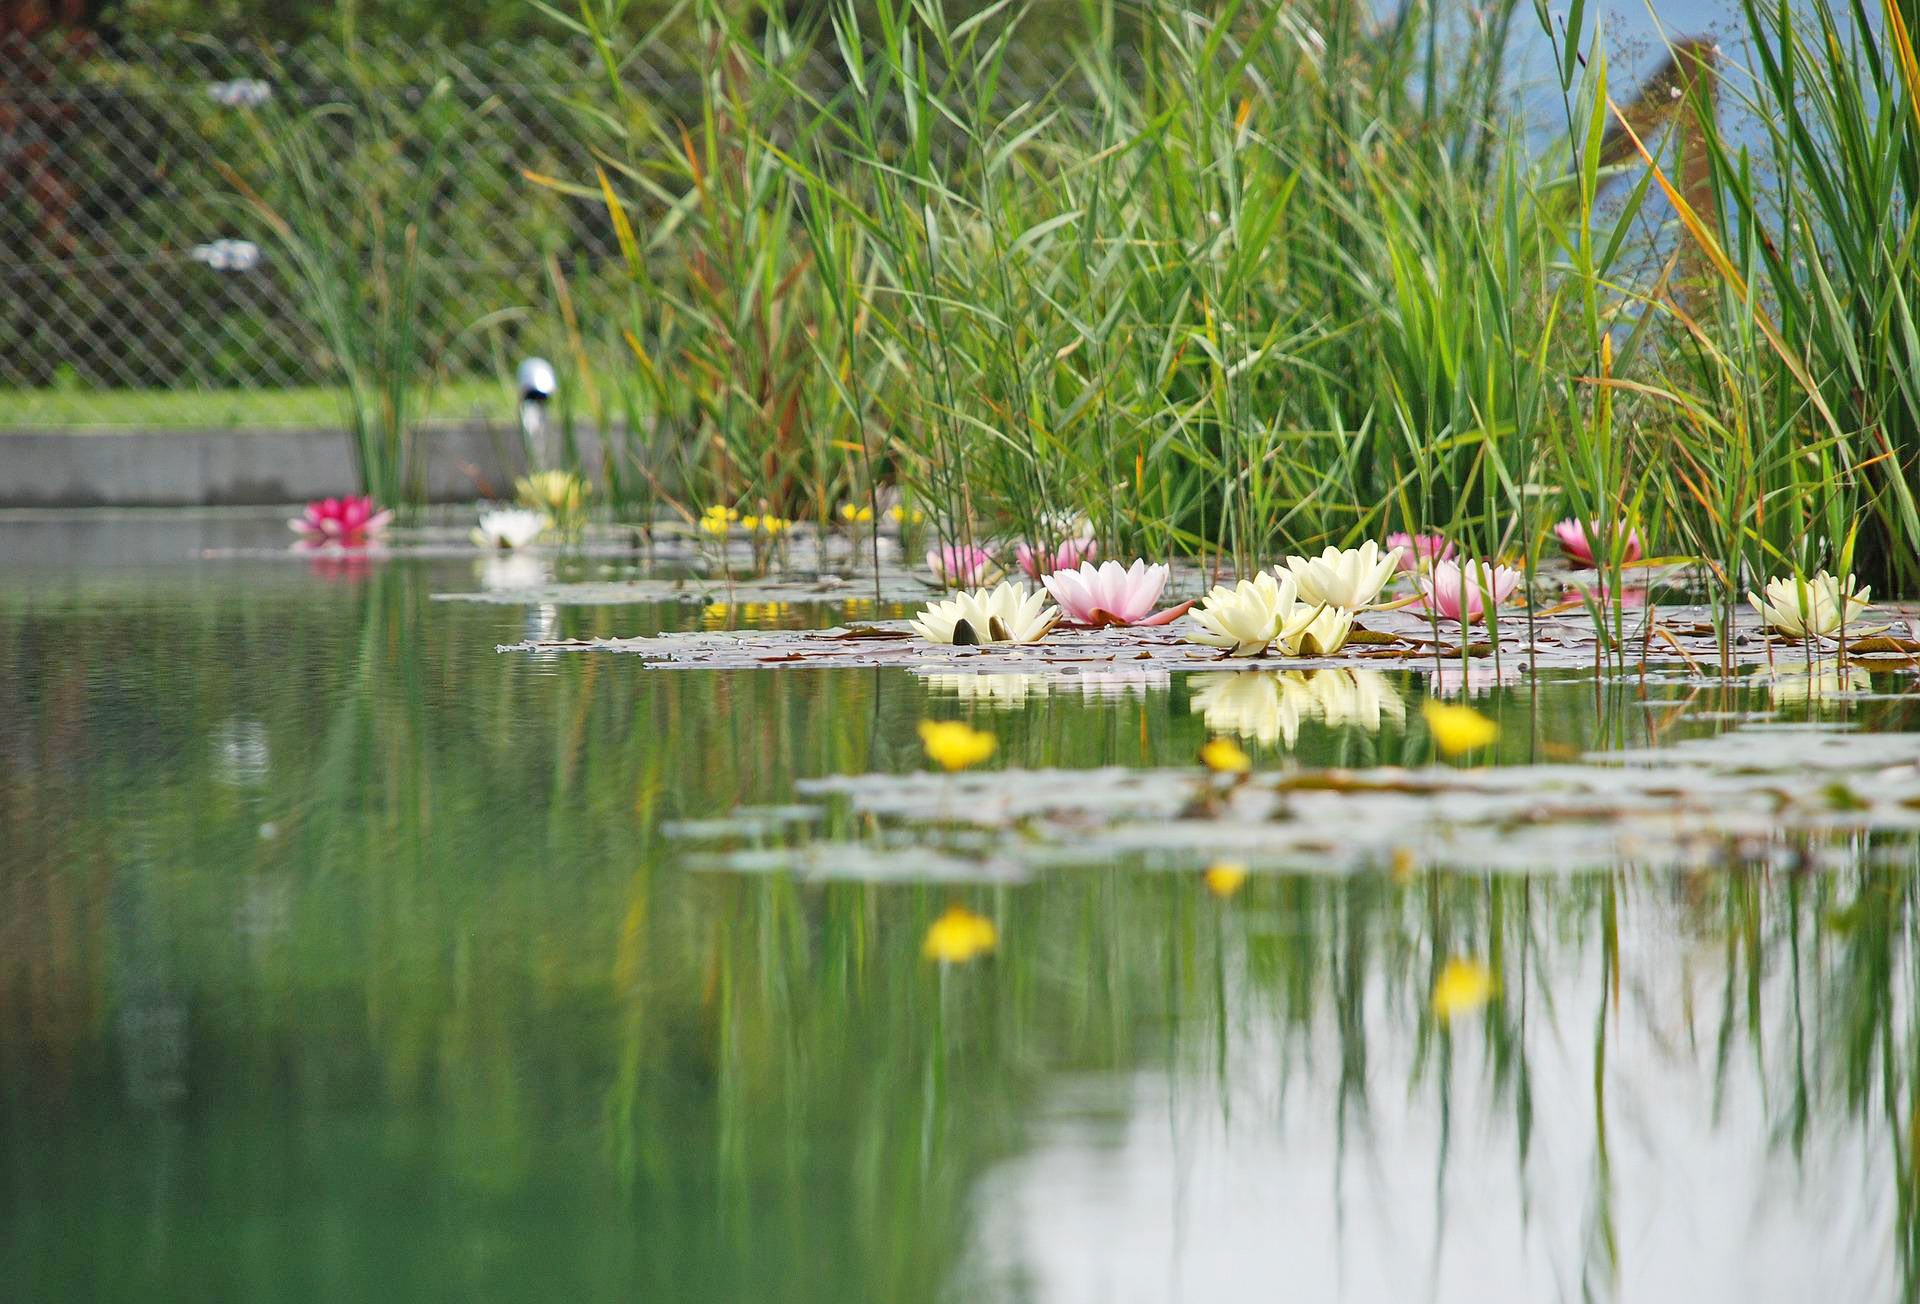
{"type": "MultiPolygon", "coordinates": [[[[628,75],[662,102],[699,88],[628,75]]],[[[597,204],[524,177],[591,177],[566,102],[597,77],[589,50],[553,42],[0,46],[0,426],[332,421],[324,346],[232,177],[257,159],[267,111],[353,94],[407,106],[436,86],[449,138],[430,163],[445,175],[422,244],[424,334],[445,342],[442,411],[497,401],[488,378],[555,277],[591,282],[614,255],[597,204]]],[[[369,161],[355,152],[392,142],[338,148],[346,221],[369,161]]]]}

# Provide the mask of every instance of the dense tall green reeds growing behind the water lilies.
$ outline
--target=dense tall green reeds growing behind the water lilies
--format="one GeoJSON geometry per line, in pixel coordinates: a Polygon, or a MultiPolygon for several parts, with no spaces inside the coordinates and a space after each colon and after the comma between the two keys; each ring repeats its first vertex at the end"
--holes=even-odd
{"type": "Polygon", "coordinates": [[[947,540],[1068,513],[1221,567],[1440,528],[1532,568],[1578,517],[1611,655],[1628,528],[1722,607],[1759,570],[1916,578],[1893,8],[1749,4],[1757,77],[1682,42],[1644,86],[1536,10],[1546,144],[1511,2],[874,0],[795,31],[693,0],[684,123],[628,88],[618,12],[566,15],[605,167],[549,184],[622,232],[632,484],[820,520],[885,486],[947,540]]]}

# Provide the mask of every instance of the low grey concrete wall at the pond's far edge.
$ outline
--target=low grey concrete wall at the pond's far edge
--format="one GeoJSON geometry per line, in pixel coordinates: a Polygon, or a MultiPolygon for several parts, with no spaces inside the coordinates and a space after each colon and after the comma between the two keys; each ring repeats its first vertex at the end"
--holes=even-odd
{"type": "MultiPolygon", "coordinates": [[[[434,426],[422,436],[430,501],[507,497],[520,474],[511,426],[434,426]]],[[[591,469],[597,442],[580,438],[591,469]]],[[[0,434],[0,507],[223,507],[351,494],[342,430],[132,430],[0,434]]]]}

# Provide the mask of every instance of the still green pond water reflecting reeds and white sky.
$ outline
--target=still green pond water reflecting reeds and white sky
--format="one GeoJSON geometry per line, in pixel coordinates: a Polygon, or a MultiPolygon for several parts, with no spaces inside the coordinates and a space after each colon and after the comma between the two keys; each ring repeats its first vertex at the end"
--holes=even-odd
{"type": "MultiPolygon", "coordinates": [[[[1582,868],[1515,822],[1500,872],[1331,847],[1225,891],[1089,824],[1008,868],[972,805],[818,780],[924,772],[929,716],[996,734],[1002,797],[1215,730],[1425,766],[1430,676],[1275,689],[1319,693],[1288,730],[1187,674],[497,653],[849,611],[184,559],[250,528],[0,526],[10,1300],[1912,1296],[1908,832],[1582,868]],[[924,958],[952,903],[995,954],[924,958]],[[1442,1020],[1450,956],[1498,987],[1442,1020]]],[[[1467,688],[1511,764],[1920,726],[1908,674],[1467,688]]]]}

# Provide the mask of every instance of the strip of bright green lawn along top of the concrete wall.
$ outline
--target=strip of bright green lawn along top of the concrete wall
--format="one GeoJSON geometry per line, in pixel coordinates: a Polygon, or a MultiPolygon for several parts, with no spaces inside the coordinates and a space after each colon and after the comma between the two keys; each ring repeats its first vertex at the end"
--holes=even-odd
{"type": "MultiPolygon", "coordinates": [[[[436,421],[513,421],[497,380],[434,392],[436,421]]],[[[13,390],[0,392],[0,430],[179,430],[340,424],[340,392],[305,390],[13,390]]]]}

